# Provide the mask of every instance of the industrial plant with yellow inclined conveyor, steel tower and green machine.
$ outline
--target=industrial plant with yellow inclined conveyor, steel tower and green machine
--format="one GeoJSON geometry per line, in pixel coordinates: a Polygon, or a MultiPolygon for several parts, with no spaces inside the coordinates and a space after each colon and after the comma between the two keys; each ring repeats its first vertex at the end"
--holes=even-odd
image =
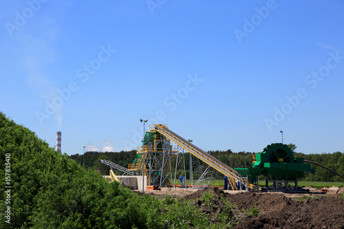
{"type": "MultiPolygon", "coordinates": [[[[57,134],[57,140],[61,140],[61,133],[57,134]]],[[[61,142],[56,142],[56,145],[61,145],[61,142]]],[[[136,158],[127,168],[108,160],[99,162],[110,166],[108,178],[111,181],[116,180],[142,191],[151,188],[158,190],[159,187],[211,186],[214,172],[217,171],[224,175],[225,190],[261,190],[259,176],[262,175],[264,179],[260,182],[265,182],[262,190],[306,193],[308,190],[298,186],[298,178],[303,177],[304,173],[314,172],[310,164],[321,166],[344,179],[343,175],[330,168],[297,157],[289,146],[281,143],[269,144],[263,152],[253,154],[252,167],[232,168],[174,133],[166,124],[151,124],[136,153],[136,158]],[[185,157],[186,153],[189,153],[188,158],[185,157]],[[189,160],[189,173],[186,173],[185,160],[189,160]],[[206,164],[205,169],[202,169],[200,162],[206,164]],[[116,175],[117,172],[121,175],[116,175]]]]}

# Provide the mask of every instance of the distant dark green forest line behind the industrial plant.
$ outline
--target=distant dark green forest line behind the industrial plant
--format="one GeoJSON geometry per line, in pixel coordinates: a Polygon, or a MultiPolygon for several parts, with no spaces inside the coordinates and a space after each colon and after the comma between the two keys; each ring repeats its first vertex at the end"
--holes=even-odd
{"type": "MultiPolygon", "coordinates": [[[[297,146],[294,144],[288,144],[290,148],[294,151],[297,146]]],[[[233,153],[230,151],[208,151],[210,155],[217,158],[224,164],[228,164],[228,166],[232,168],[252,168],[252,155],[253,153],[249,152],[239,152],[233,153]]],[[[316,162],[326,166],[327,168],[331,168],[332,170],[336,171],[337,173],[344,175],[344,153],[335,152],[335,153],[321,153],[321,154],[304,154],[304,153],[294,153],[297,157],[303,157],[304,160],[309,160],[312,162],[316,162]]],[[[83,155],[70,155],[71,159],[75,160],[78,164],[83,165],[83,155]]],[[[106,164],[98,162],[98,160],[109,160],[120,166],[124,166],[127,168],[128,164],[133,163],[133,159],[136,157],[136,151],[121,151],[121,152],[99,152],[99,153],[92,153],[87,152],[85,153],[85,168],[93,168],[94,170],[100,171],[102,175],[109,175],[110,167],[106,164]]],[[[175,157],[173,158],[172,164],[175,164],[175,157]]],[[[206,168],[206,164],[202,163],[202,168],[206,168]]],[[[174,166],[173,166],[174,168],[174,166]]],[[[185,168],[186,174],[189,175],[189,153],[185,155],[185,168]]],[[[181,168],[178,168],[181,169],[181,168]]],[[[344,182],[341,177],[333,175],[329,171],[321,168],[319,166],[315,166],[312,164],[312,169],[315,170],[315,173],[305,173],[305,177],[301,177],[299,180],[307,180],[307,181],[317,181],[317,182],[344,182]]],[[[223,179],[224,175],[221,173],[216,172],[214,179],[223,179]]]]}

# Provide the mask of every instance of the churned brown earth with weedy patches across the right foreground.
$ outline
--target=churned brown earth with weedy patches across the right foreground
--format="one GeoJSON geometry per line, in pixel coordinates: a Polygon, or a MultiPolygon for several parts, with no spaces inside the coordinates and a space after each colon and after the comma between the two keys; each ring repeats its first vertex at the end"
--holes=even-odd
{"type": "MultiPolygon", "coordinates": [[[[163,191],[164,194],[169,194],[168,191],[163,191]]],[[[173,196],[178,196],[176,193],[178,190],[171,191],[173,196]]],[[[230,217],[235,216],[237,219],[231,221],[235,225],[234,228],[344,229],[344,198],[339,197],[343,192],[344,188],[337,188],[331,192],[334,193],[333,195],[329,195],[330,192],[316,192],[306,195],[293,194],[288,197],[288,194],[285,193],[228,193],[228,191],[224,192],[221,188],[208,187],[196,191],[184,191],[180,196],[180,200],[194,200],[195,206],[215,224],[219,222],[220,217],[223,217],[224,214],[230,217]],[[207,192],[213,194],[213,199],[210,202],[202,200],[202,195],[207,192]],[[231,208],[228,208],[228,203],[232,203],[231,208]],[[253,207],[259,209],[259,217],[253,217],[248,213],[253,207]]],[[[161,194],[155,193],[153,195],[159,196],[161,194]]],[[[230,221],[228,222],[230,223],[230,221]]]]}

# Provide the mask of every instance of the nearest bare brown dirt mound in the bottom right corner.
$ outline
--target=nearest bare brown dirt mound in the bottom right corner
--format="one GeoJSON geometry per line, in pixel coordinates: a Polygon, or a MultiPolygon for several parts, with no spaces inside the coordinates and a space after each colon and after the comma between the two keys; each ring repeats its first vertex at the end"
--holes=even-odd
{"type": "Polygon", "coordinates": [[[290,201],[278,212],[270,212],[239,223],[235,228],[344,228],[344,199],[321,197],[290,201]]]}

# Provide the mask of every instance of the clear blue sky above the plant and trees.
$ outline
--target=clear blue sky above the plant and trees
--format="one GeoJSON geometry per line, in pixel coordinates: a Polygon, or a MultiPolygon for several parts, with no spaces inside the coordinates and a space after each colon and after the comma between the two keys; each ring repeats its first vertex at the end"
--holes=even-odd
{"type": "Polygon", "coordinates": [[[344,1],[1,1],[0,110],[62,151],[344,152],[344,1]],[[148,124],[146,129],[148,129],[148,124]]]}

